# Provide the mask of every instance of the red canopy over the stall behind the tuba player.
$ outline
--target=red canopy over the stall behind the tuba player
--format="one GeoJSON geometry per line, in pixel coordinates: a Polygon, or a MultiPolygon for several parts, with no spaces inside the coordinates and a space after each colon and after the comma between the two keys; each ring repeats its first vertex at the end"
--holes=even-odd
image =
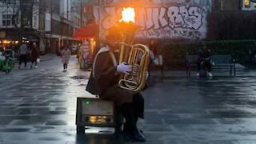
{"type": "Polygon", "coordinates": [[[98,34],[98,25],[88,24],[76,30],[74,32],[74,38],[76,39],[94,38],[95,34],[98,34]]]}

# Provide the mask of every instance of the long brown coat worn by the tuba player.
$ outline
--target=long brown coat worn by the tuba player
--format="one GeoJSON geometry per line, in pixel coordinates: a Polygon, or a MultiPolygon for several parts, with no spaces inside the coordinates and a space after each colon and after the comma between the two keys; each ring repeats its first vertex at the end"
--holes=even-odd
{"type": "Polygon", "coordinates": [[[117,86],[118,72],[114,54],[107,47],[99,50],[94,60],[92,73],[86,87],[91,94],[98,94],[100,98],[114,101],[120,105],[133,101],[133,94],[117,86]]]}

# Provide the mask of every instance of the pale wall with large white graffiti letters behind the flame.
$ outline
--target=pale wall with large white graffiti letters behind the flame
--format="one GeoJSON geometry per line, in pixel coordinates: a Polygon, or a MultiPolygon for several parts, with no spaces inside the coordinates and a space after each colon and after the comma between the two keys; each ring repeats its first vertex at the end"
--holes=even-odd
{"type": "MultiPolygon", "coordinates": [[[[206,16],[210,0],[186,0],[137,6],[135,23],[140,26],[136,38],[206,38],[206,16]],[[203,3],[202,3],[203,2],[203,3]]],[[[117,24],[122,7],[94,6],[94,18],[100,25],[100,35],[117,24]]]]}

